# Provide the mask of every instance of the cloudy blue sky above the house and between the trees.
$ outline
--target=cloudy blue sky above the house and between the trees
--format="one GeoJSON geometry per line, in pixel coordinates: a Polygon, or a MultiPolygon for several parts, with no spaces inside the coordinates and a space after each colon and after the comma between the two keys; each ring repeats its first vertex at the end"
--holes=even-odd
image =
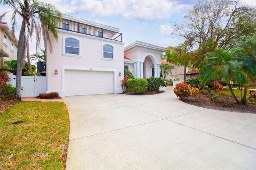
{"type": "MultiPolygon", "coordinates": [[[[42,0],[40,0],[42,1],[42,0]]],[[[184,22],[184,15],[198,0],[44,0],[54,4],[60,12],[84,20],[113,26],[120,29],[124,47],[136,40],[162,47],[183,43],[178,36],[171,36],[174,22],[184,22]]],[[[256,7],[256,0],[241,0],[256,7]]],[[[12,8],[0,4],[0,15],[12,8]]],[[[4,22],[11,27],[12,12],[4,22]]],[[[18,20],[18,26],[22,20],[18,20]]],[[[17,28],[16,36],[19,35],[17,28]]],[[[35,37],[35,34],[34,34],[35,37]]],[[[30,43],[30,54],[36,53],[35,38],[30,43]]],[[[43,42],[41,47],[44,48],[43,42]]]]}

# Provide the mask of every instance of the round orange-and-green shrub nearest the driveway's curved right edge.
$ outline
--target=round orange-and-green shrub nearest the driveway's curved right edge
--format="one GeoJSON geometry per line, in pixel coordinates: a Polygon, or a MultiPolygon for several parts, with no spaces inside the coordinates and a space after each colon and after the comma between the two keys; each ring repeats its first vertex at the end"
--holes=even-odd
{"type": "Polygon", "coordinates": [[[175,95],[180,97],[180,99],[185,99],[191,94],[191,87],[186,82],[177,83],[173,89],[175,95]]]}

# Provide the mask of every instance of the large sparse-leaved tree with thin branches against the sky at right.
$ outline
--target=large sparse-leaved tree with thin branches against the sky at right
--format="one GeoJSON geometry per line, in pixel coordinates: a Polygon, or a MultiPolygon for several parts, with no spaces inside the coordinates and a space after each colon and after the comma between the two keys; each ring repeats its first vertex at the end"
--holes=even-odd
{"type": "MultiPolygon", "coordinates": [[[[216,47],[231,49],[239,37],[255,34],[256,9],[240,6],[238,2],[200,0],[193,10],[185,14],[185,22],[174,24],[172,34],[184,38],[186,51],[190,53],[190,64],[194,67],[200,69],[205,64],[204,54],[213,52],[216,47]]],[[[176,61],[184,65],[184,56],[177,57],[180,59],[176,61]]]]}

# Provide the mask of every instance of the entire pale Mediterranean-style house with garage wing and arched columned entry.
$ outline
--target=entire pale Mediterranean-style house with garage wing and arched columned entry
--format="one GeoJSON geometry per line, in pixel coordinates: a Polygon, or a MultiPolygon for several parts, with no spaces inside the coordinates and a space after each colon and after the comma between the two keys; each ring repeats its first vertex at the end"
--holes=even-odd
{"type": "MultiPolygon", "coordinates": [[[[43,32],[47,55],[47,91],[61,97],[121,93],[124,69],[135,78],[162,77],[161,60],[167,48],[136,41],[126,47],[119,28],[63,15],[58,20],[58,41],[52,53],[43,32]]],[[[174,72],[174,71],[172,71],[174,72]]],[[[166,77],[170,79],[172,75],[166,77]]]]}

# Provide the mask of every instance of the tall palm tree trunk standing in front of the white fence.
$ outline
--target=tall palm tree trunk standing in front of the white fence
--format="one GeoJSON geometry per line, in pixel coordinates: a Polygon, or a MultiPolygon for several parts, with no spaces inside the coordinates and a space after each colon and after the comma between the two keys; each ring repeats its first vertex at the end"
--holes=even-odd
{"type": "Polygon", "coordinates": [[[24,32],[26,20],[22,21],[20,36],[17,49],[17,72],[16,72],[16,99],[21,100],[21,75],[22,75],[22,56],[24,53],[24,32]]]}

